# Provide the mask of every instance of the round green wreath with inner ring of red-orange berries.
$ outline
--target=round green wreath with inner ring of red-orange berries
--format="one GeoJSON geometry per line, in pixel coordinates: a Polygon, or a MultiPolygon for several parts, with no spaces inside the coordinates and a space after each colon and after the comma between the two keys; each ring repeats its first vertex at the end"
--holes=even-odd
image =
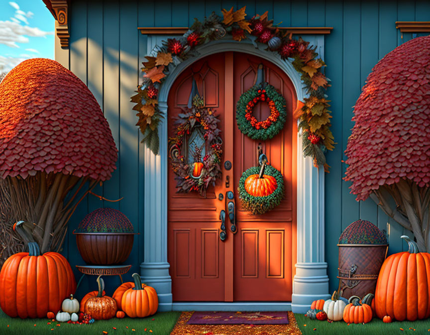
{"type": "Polygon", "coordinates": [[[284,128],[287,121],[286,101],[276,88],[267,82],[252,86],[244,92],[236,105],[236,121],[239,130],[254,140],[273,138],[284,128]],[[258,121],[252,114],[259,102],[267,102],[270,115],[258,121]]]}

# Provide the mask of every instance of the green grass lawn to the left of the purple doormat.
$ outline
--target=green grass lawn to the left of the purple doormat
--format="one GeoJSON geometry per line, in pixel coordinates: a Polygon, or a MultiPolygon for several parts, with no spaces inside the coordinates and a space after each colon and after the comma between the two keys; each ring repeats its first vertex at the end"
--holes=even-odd
{"type": "Polygon", "coordinates": [[[0,310],[0,334],[104,335],[103,331],[105,331],[108,332],[108,335],[169,335],[180,314],[181,312],[165,312],[156,313],[153,316],[143,319],[113,318],[106,321],[96,321],[92,325],[71,325],[67,323],[51,322],[48,319],[21,320],[19,318],[9,318],[0,310]],[[51,322],[51,324],[48,325],[48,322],[51,322]],[[56,326],[57,324],[61,326],[58,327],[56,326]],[[112,327],[115,327],[116,330],[112,327]],[[53,331],[51,329],[53,329],[53,331]]]}

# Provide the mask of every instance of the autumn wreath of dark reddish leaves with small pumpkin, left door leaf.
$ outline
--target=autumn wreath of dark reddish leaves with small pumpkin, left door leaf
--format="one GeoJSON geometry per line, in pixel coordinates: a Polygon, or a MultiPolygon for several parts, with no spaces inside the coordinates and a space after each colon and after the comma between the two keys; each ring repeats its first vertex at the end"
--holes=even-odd
{"type": "Polygon", "coordinates": [[[183,108],[169,138],[169,157],[177,180],[176,191],[197,191],[205,196],[210,185],[221,177],[222,139],[219,119],[204,100],[194,96],[191,108],[183,108]]]}

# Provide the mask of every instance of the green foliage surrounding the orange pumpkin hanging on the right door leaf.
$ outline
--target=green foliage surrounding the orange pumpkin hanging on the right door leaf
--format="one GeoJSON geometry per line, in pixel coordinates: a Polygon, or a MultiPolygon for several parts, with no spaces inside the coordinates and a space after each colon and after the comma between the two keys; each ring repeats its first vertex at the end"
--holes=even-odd
{"type": "Polygon", "coordinates": [[[276,168],[267,165],[264,174],[273,176],[276,179],[277,188],[272,194],[267,196],[253,196],[249,194],[245,189],[245,180],[251,174],[258,174],[260,167],[250,167],[242,173],[239,180],[239,199],[242,202],[243,208],[250,211],[253,215],[264,214],[267,211],[272,210],[281,203],[284,197],[284,177],[282,173],[276,168]]]}

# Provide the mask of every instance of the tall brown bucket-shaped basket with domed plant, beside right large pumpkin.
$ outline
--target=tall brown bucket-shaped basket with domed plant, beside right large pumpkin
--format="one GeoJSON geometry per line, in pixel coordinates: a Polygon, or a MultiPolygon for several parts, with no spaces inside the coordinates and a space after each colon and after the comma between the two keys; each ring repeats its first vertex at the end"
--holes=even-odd
{"type": "Polygon", "coordinates": [[[337,246],[340,295],[348,299],[374,294],[388,251],[384,233],[369,221],[357,220],[345,228],[337,246]]]}

